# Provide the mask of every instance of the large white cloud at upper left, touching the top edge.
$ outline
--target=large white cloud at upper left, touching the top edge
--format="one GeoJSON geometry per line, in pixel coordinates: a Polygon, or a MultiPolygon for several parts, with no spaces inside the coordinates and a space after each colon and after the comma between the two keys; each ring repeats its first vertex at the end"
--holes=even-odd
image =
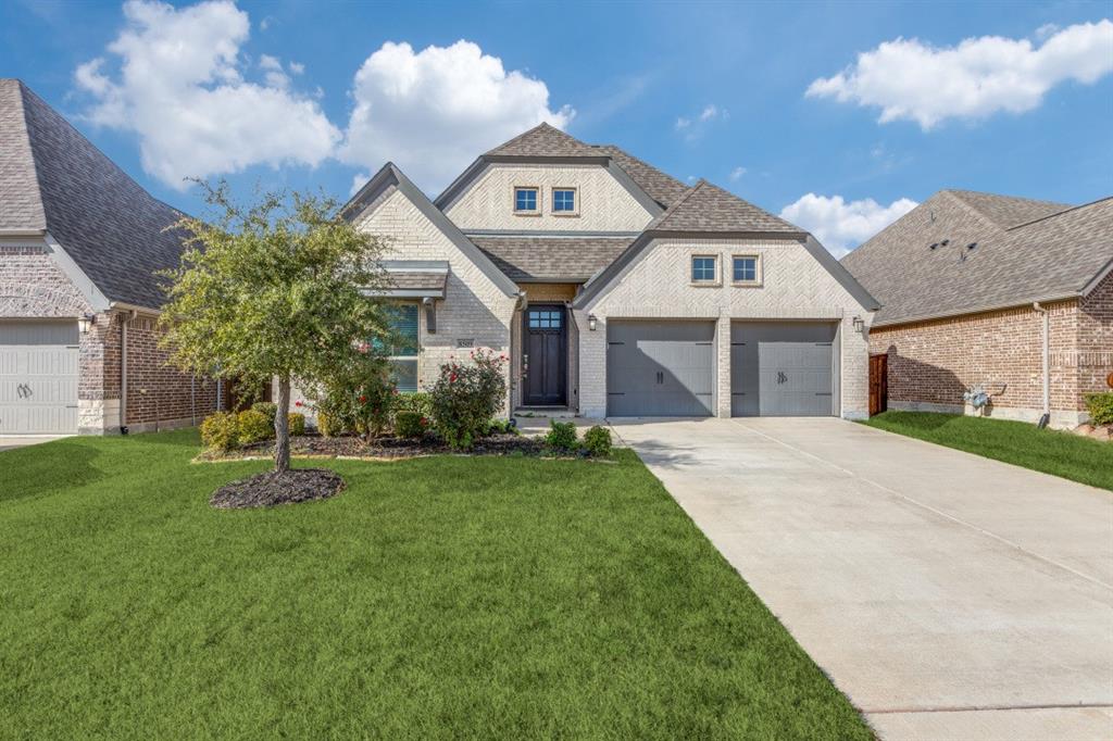
{"type": "Polygon", "coordinates": [[[181,9],[129,0],[124,18],[108,47],[118,75],[98,58],[75,79],[95,101],[86,116],[135,131],[144,169],[167,185],[258,164],[316,166],[341,140],[316,102],[288,89],[277,58],[260,57],[263,83],[244,79],[248,17],[230,0],[181,9]]]}

